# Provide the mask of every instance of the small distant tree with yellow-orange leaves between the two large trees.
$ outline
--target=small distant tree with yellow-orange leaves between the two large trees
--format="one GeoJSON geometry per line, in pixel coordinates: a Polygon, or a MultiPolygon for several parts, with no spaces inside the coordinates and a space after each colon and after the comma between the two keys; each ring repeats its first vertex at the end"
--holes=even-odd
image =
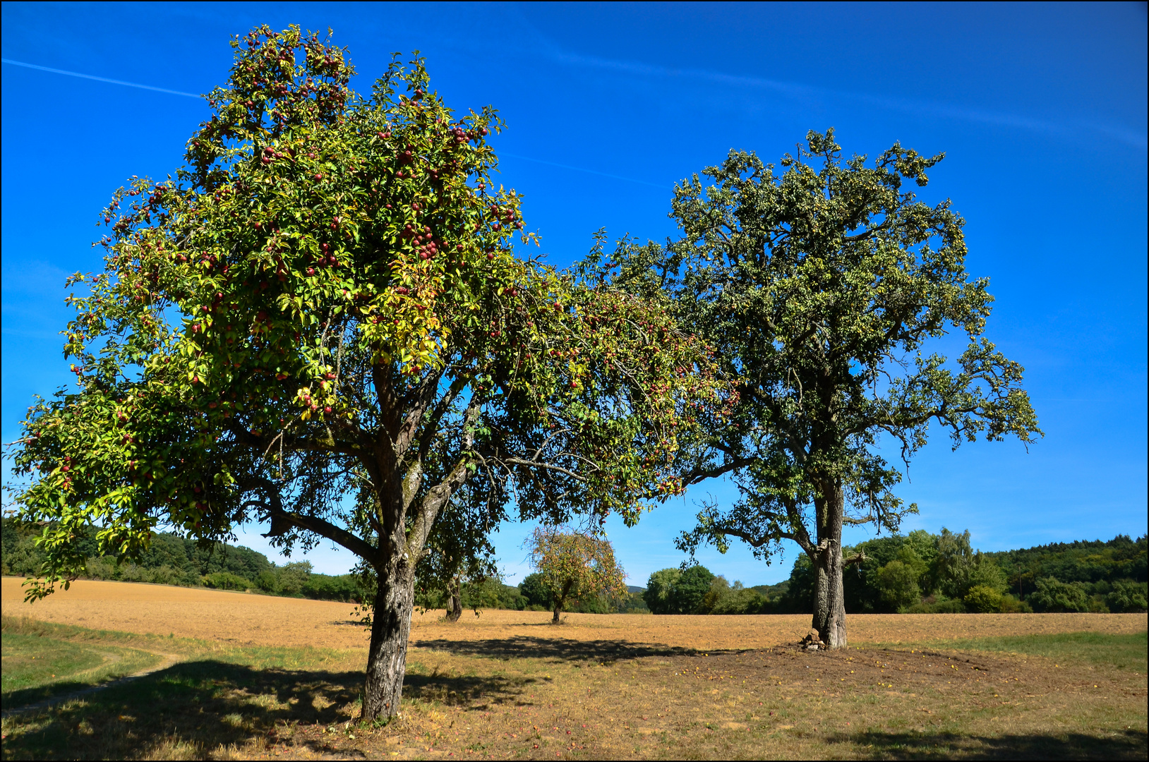
{"type": "Polygon", "coordinates": [[[626,592],[626,577],[607,539],[561,528],[540,528],[531,533],[530,556],[550,592],[553,624],[558,624],[558,616],[569,602],[626,592]]]}

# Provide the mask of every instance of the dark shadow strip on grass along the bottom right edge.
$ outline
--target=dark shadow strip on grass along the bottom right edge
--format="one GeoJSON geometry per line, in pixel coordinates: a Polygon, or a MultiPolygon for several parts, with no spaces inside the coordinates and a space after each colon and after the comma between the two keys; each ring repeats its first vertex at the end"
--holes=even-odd
{"type": "Polygon", "coordinates": [[[921,760],[1144,760],[1149,739],[1141,730],[1102,737],[1084,733],[1049,736],[964,736],[957,733],[851,733],[826,740],[850,744],[872,759],[921,760]]]}

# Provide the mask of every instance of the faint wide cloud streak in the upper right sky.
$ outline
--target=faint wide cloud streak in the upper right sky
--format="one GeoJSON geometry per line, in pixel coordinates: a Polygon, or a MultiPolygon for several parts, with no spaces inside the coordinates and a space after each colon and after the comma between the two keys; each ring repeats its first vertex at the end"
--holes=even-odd
{"type": "Polygon", "coordinates": [[[548,53],[555,61],[571,66],[580,66],[593,69],[604,69],[608,71],[619,71],[647,77],[691,77],[708,82],[732,85],[738,87],[755,87],[770,90],[789,98],[797,99],[825,99],[840,98],[870,103],[880,108],[904,111],[915,115],[940,116],[947,118],[963,120],[966,122],[979,122],[982,124],[995,124],[1002,126],[1021,128],[1036,132],[1064,133],[1073,129],[1096,130],[1111,138],[1144,149],[1149,147],[1149,140],[1144,133],[1139,133],[1121,126],[1097,124],[1094,122],[1073,122],[1070,124],[1035,120],[1016,114],[1001,111],[988,111],[982,109],[963,108],[961,106],[949,106],[928,101],[915,101],[901,98],[888,98],[870,95],[865,93],[850,93],[839,90],[813,87],[788,82],[777,82],[762,77],[747,77],[741,75],[728,75],[719,71],[708,71],[705,69],[672,69],[669,67],[637,63],[631,61],[616,61],[597,56],[576,55],[560,51],[548,53]]]}

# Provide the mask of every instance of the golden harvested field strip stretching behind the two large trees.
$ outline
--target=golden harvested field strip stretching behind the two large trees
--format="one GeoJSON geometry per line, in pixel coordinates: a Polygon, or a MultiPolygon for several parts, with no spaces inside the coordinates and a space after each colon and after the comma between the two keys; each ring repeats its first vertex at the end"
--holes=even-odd
{"type": "MultiPolygon", "coordinates": [[[[364,648],[368,637],[356,624],[355,606],[254,593],[167,585],[78,580],[43,601],[23,602],[22,578],[5,577],[2,603],[8,615],[76,624],[97,630],[175,634],[200,640],[261,646],[364,648]]],[[[794,642],[810,628],[807,615],[654,616],[642,614],[568,614],[565,626],[550,626],[549,611],[485,610],[464,613],[456,624],[440,611],[411,622],[412,645],[435,648],[454,642],[499,641],[503,651],[539,641],[603,641],[635,647],[720,651],[769,648],[794,642]]],[[[849,618],[853,642],[927,642],[948,639],[1052,634],[1058,632],[1143,632],[1138,614],[872,614],[849,618]]],[[[507,655],[507,654],[503,654],[507,655]]]]}

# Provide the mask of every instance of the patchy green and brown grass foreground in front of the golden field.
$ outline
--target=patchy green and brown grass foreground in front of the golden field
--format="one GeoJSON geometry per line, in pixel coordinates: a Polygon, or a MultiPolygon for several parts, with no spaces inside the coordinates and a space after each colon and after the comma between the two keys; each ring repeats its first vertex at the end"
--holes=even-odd
{"type": "Polygon", "coordinates": [[[381,728],[354,721],[362,649],[229,646],[6,619],[6,676],[10,634],[18,644],[41,638],[49,657],[60,644],[56,655],[77,654],[75,669],[87,663],[80,651],[182,661],[9,716],[5,759],[1147,755],[1144,633],[834,653],[637,647],[566,637],[564,628],[424,641],[410,652],[403,715],[381,728]]]}

